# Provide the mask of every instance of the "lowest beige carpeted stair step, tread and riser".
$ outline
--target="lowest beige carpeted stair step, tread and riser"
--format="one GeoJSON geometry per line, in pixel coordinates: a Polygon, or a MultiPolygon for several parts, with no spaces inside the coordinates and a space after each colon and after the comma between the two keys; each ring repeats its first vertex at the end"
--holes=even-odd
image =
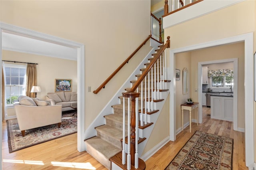
{"type": "Polygon", "coordinates": [[[117,148],[98,136],[86,140],[85,143],[87,145],[87,152],[108,169],[111,169],[110,158],[122,151],[122,149],[117,148]]]}

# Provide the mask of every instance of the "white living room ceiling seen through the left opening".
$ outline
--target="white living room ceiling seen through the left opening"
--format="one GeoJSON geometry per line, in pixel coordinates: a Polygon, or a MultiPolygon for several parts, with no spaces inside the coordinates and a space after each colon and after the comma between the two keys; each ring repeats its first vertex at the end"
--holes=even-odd
{"type": "Polygon", "coordinates": [[[77,60],[76,48],[2,32],[2,49],[48,57],[77,60]]]}

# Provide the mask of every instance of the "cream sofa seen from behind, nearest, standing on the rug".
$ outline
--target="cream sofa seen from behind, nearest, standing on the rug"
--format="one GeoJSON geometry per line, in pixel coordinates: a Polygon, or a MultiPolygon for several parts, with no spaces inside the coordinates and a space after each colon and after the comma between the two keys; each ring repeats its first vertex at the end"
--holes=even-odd
{"type": "Polygon", "coordinates": [[[20,96],[18,102],[14,103],[14,109],[22,136],[25,136],[25,130],[31,128],[55,123],[58,123],[60,128],[62,119],[61,108],[61,105],[50,105],[49,102],[38,98],[20,96]]]}

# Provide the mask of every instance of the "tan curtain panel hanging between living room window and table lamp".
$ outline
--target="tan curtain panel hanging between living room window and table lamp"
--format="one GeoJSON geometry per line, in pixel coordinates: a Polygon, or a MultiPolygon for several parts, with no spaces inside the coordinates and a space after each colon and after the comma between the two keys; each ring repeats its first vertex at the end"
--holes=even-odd
{"type": "Polygon", "coordinates": [[[26,95],[36,97],[35,93],[30,93],[32,86],[36,86],[36,64],[27,65],[26,95]]]}

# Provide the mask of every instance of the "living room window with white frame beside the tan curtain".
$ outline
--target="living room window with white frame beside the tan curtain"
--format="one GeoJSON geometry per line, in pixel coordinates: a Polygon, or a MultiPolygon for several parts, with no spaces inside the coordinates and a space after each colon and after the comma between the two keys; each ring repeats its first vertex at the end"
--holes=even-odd
{"type": "Polygon", "coordinates": [[[4,64],[6,103],[12,105],[20,95],[26,95],[26,65],[4,64]]]}

